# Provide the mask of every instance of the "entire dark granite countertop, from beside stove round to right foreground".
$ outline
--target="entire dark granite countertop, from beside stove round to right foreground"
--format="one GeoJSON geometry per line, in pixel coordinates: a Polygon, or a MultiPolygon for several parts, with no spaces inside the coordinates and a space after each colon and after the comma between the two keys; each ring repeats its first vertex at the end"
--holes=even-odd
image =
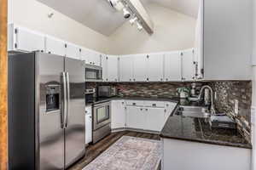
{"type": "Polygon", "coordinates": [[[177,115],[179,105],[204,106],[202,103],[189,102],[186,99],[174,98],[144,98],[144,97],[112,97],[97,99],[93,105],[102,102],[108,102],[114,99],[137,99],[137,100],[157,100],[170,101],[177,103],[176,108],[172,111],[171,116],[166,121],[165,126],[160,132],[161,138],[182,139],[207,144],[220,144],[252,149],[252,144],[241,136],[235,130],[230,129],[211,129],[209,122],[205,118],[184,117],[177,115]]]}

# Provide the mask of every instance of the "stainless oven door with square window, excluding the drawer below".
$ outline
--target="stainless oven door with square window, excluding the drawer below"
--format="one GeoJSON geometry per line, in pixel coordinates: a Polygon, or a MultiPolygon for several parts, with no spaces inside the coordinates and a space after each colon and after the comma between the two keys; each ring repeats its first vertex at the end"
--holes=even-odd
{"type": "Polygon", "coordinates": [[[110,123],[110,102],[96,104],[93,108],[93,130],[104,127],[110,123]]]}

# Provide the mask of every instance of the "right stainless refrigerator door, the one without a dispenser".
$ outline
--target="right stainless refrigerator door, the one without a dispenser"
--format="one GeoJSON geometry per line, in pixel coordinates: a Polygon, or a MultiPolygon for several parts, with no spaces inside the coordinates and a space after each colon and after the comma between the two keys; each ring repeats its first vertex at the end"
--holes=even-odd
{"type": "MultiPolygon", "coordinates": [[[[69,84],[67,102],[67,127],[65,128],[65,167],[78,161],[85,153],[85,67],[77,59],[65,59],[65,71],[69,84]]],[[[67,89],[68,92],[68,89],[67,89]]]]}

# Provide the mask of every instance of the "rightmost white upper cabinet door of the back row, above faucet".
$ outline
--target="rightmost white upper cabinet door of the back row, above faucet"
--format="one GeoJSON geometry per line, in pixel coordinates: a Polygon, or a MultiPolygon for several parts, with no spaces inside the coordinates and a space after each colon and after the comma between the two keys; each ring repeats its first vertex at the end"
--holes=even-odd
{"type": "Polygon", "coordinates": [[[182,55],[182,79],[191,81],[195,79],[194,49],[181,52],[182,55]]]}

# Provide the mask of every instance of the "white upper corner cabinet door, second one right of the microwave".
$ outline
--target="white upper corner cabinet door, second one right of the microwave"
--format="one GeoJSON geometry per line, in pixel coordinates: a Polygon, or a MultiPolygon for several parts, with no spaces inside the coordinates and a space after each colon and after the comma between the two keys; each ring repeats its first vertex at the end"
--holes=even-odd
{"type": "Polygon", "coordinates": [[[108,55],[108,81],[118,82],[118,62],[119,57],[116,55],[108,55]]]}

